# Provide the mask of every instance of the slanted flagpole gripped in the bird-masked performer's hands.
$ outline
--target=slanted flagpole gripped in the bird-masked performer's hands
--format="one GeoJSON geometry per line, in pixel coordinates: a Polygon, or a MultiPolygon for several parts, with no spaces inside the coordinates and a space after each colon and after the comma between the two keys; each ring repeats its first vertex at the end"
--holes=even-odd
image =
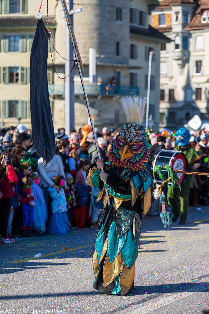
{"type": "MultiPolygon", "coordinates": [[[[69,30],[69,33],[70,33],[70,37],[71,37],[71,41],[72,41],[72,45],[73,45],[73,51],[74,51],[76,60],[79,60],[78,54],[77,54],[77,50],[76,50],[77,43],[74,43],[74,40],[73,40],[73,35],[72,35],[72,31],[71,31],[71,19],[70,19],[69,13],[67,11],[66,2],[65,2],[65,0],[61,0],[61,3],[62,3],[63,11],[65,13],[65,19],[66,19],[67,27],[68,27],[68,30],[69,30]]],[[[92,119],[92,116],[91,116],[91,109],[90,109],[90,106],[89,106],[88,96],[86,94],[86,88],[85,88],[85,85],[84,85],[84,80],[83,80],[83,76],[82,76],[82,72],[81,72],[80,62],[77,62],[77,66],[78,66],[78,72],[79,72],[79,75],[80,75],[80,78],[81,78],[81,84],[82,84],[82,88],[83,88],[83,92],[84,92],[84,97],[85,97],[85,100],[86,100],[86,105],[87,105],[87,109],[88,109],[88,113],[89,113],[89,118],[90,118],[90,122],[91,122],[92,131],[93,131],[93,134],[94,134],[94,141],[95,141],[96,148],[97,148],[97,154],[98,154],[99,159],[101,159],[101,154],[100,154],[100,151],[99,151],[99,145],[98,145],[98,142],[97,142],[97,135],[96,135],[96,132],[95,132],[94,123],[93,123],[93,119],[92,119]]],[[[101,168],[101,171],[104,172],[104,169],[101,168]]],[[[108,205],[110,205],[109,195],[108,195],[106,190],[105,190],[105,192],[106,192],[106,196],[107,196],[107,203],[108,203],[108,205]]]]}

